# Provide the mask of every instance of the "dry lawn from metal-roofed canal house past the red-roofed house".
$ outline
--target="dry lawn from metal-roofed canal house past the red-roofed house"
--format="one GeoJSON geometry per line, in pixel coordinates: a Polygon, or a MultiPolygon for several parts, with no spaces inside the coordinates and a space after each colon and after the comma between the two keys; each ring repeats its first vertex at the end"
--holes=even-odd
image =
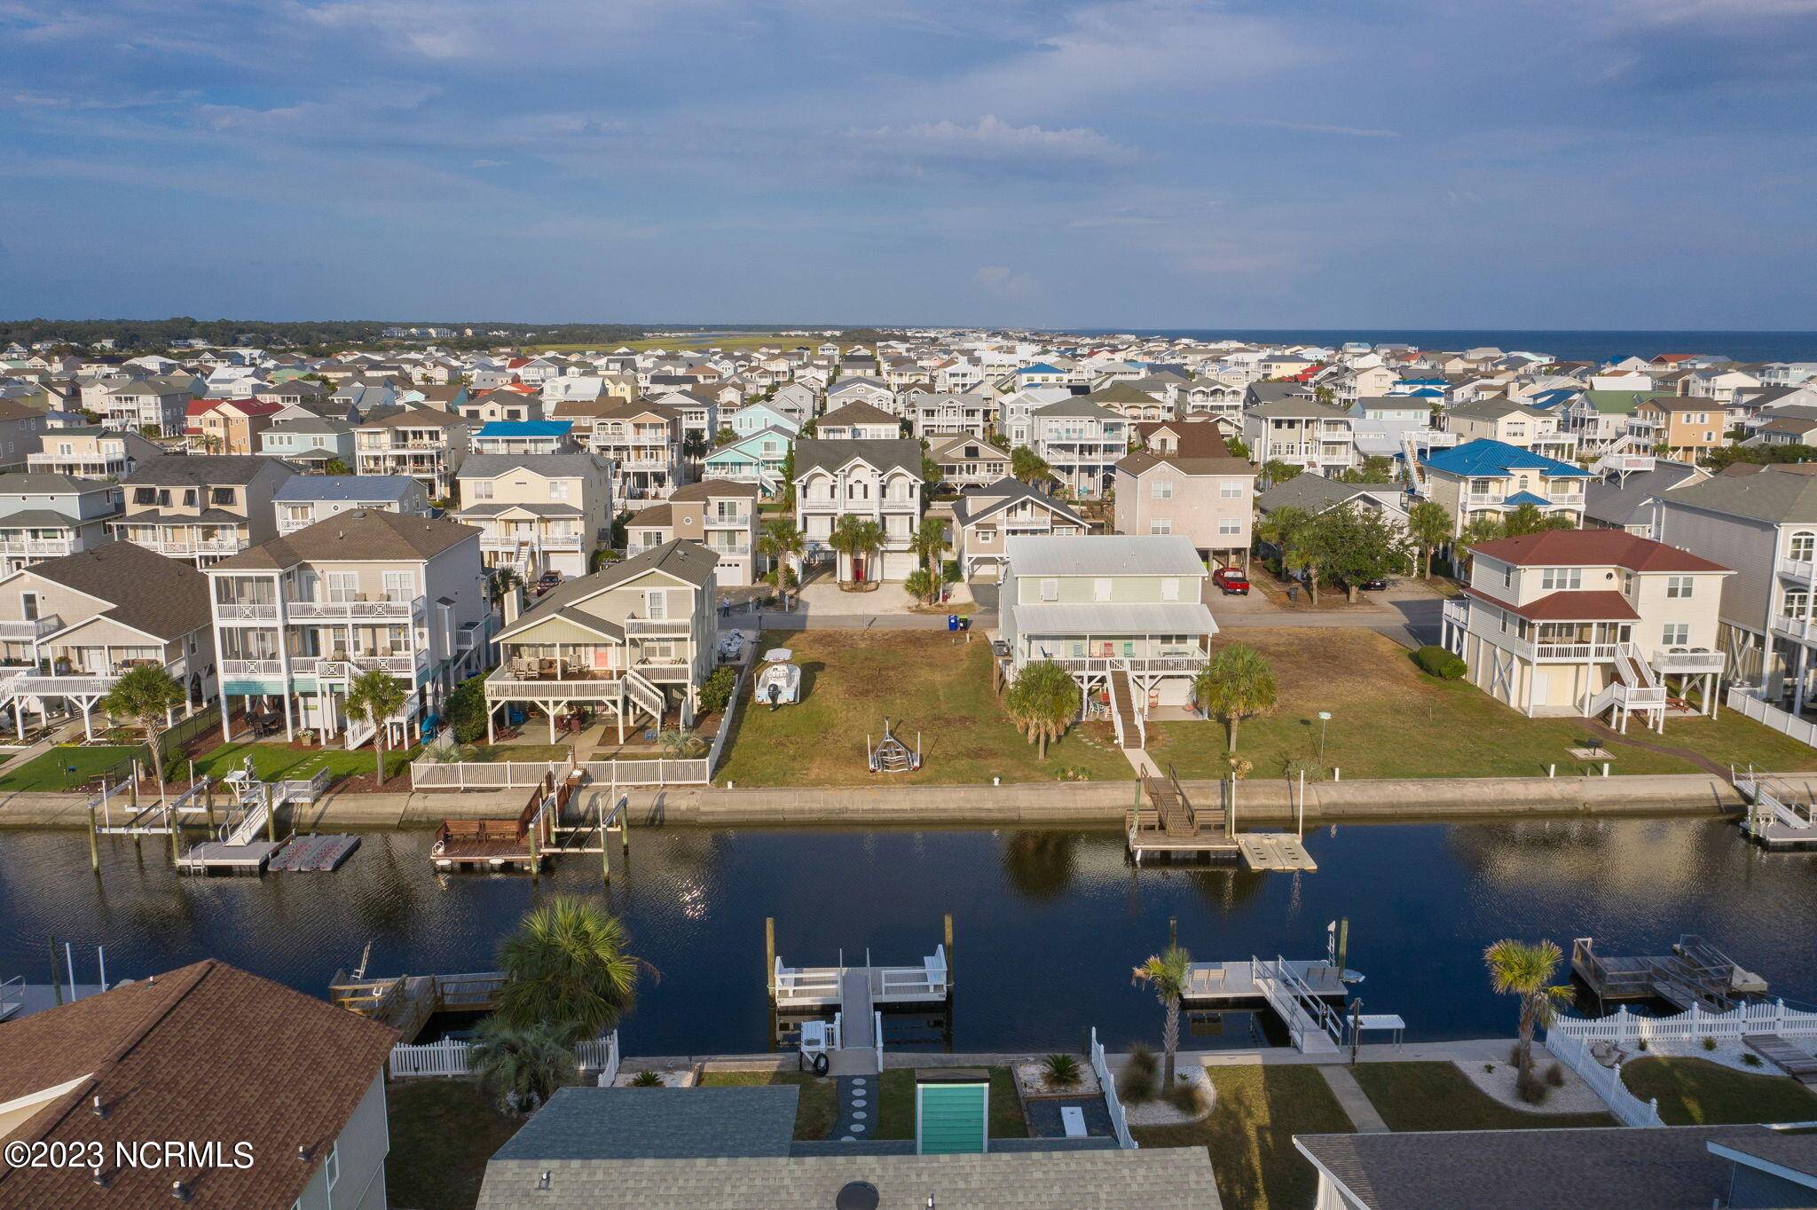
{"type": "MultiPolygon", "coordinates": [[[[1426,676],[1410,652],[1363,629],[1257,627],[1219,636],[1216,645],[1246,643],[1274,667],[1279,710],[1237,725],[1237,752],[1252,778],[1279,778],[1292,761],[1316,776],[1319,710],[1330,710],[1325,765],[1345,778],[1490,778],[1584,772],[1568,749],[1588,730],[1581,719],[1526,718],[1466,681],[1426,676]],[[1385,723],[1392,719],[1392,730],[1385,723]]],[[[1666,734],[1630,734],[1644,743],[1699,752],[1719,765],[1773,770],[1817,767],[1802,743],[1723,710],[1721,718],[1666,719],[1666,734]]],[[[1612,774],[1699,772],[1695,765],[1632,743],[1610,743],[1612,774]]],[[[1181,778],[1216,778],[1223,765],[1223,723],[1152,723],[1148,752],[1181,778]]]]}

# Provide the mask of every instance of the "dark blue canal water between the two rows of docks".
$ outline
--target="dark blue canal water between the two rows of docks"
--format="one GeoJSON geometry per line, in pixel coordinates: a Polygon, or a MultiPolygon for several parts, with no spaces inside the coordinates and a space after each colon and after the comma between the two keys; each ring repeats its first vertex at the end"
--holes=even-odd
{"type": "MultiPolygon", "coordinates": [[[[372,974],[485,970],[538,898],[601,890],[598,858],[521,876],[436,874],[429,832],[371,832],[336,874],[198,879],[154,839],[140,859],[107,838],[102,876],[82,834],[0,832],[0,979],[49,979],[49,945],[74,945],[78,979],[107,947],[111,979],[214,956],[322,996],[372,943],[372,974]]],[[[789,965],[918,963],[952,912],[956,1050],[1157,1039],[1159,1007],[1130,968],[1167,943],[1197,959],[1325,954],[1348,917],[1365,1012],[1410,1039],[1512,1032],[1484,979],[1497,937],[1594,936],[1659,954],[1684,932],[1726,948],[1788,1001],[1817,1001],[1817,854],[1764,854],[1721,819],[1345,825],[1308,836],[1316,874],[1205,867],[1134,870],[1116,832],[703,830],[632,834],[605,890],[632,948],[660,972],[623,1025],[629,1054],[756,1052],[769,1045],[763,917],[789,965]]],[[[280,1027],[282,1028],[282,1027],[280,1027]]],[[[1237,1017],[1188,1045],[1243,1045],[1237,1017]]]]}

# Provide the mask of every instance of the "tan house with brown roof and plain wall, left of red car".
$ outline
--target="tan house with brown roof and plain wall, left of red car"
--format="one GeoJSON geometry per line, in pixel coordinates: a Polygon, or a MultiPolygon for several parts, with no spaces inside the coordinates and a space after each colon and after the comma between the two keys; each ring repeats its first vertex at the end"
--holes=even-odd
{"type": "Polygon", "coordinates": [[[1256,467],[1246,460],[1137,451],[1116,471],[1119,534],[1185,534],[1201,556],[1248,567],[1256,467]]]}

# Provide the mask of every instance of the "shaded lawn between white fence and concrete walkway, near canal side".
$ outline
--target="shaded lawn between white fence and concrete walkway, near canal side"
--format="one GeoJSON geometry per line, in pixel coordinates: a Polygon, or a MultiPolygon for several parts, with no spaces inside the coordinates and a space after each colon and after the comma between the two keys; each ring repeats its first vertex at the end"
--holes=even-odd
{"type": "Polygon", "coordinates": [[[1350,1134],[1354,1126],[1317,1068],[1214,1066],[1217,1106],[1190,1126],[1132,1126],[1143,1146],[1203,1146],[1230,1210],[1299,1210],[1317,1177],[1294,1150],[1296,1134],[1350,1134]]]}

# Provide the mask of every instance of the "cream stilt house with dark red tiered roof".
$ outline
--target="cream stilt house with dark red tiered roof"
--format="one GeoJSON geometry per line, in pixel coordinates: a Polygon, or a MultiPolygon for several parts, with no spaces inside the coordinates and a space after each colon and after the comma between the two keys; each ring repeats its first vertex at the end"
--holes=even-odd
{"type": "Polygon", "coordinates": [[[1664,729],[1666,678],[1715,709],[1723,581],[1712,560],[1619,529],[1470,547],[1470,585],[1445,603],[1445,645],[1470,683],[1526,716],[1604,712],[1664,729]]]}

